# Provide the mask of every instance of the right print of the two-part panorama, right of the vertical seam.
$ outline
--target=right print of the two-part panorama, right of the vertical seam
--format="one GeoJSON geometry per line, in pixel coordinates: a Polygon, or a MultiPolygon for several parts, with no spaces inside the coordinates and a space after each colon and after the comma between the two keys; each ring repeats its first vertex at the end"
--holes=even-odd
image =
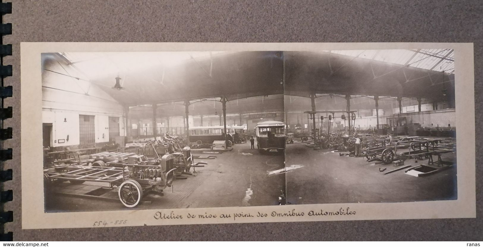
{"type": "Polygon", "coordinates": [[[284,59],[287,203],[457,199],[453,49],[284,59]]]}

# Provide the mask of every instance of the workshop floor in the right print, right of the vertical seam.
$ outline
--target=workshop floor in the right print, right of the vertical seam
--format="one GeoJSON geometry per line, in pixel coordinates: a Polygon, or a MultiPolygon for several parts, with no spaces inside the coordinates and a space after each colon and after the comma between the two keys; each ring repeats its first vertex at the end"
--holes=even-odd
{"type": "MultiPolygon", "coordinates": [[[[288,144],[286,167],[287,204],[316,203],[396,203],[455,200],[456,167],[426,177],[415,177],[404,170],[384,175],[393,164],[367,162],[366,158],[339,156],[329,150],[314,151],[305,144],[288,144]],[[386,171],[379,172],[380,167],[386,171]]],[[[437,157],[435,157],[437,159],[437,157]]],[[[444,160],[444,157],[443,157],[444,160]]],[[[427,160],[406,160],[417,166],[427,160]]]]}

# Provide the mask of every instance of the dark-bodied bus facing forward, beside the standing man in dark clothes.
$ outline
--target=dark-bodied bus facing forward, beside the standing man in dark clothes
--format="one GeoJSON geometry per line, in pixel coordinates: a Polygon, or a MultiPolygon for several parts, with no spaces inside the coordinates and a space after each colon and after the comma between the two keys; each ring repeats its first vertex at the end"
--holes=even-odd
{"type": "Polygon", "coordinates": [[[260,153],[284,151],[285,124],[279,121],[260,122],[255,127],[256,147],[260,153]]]}

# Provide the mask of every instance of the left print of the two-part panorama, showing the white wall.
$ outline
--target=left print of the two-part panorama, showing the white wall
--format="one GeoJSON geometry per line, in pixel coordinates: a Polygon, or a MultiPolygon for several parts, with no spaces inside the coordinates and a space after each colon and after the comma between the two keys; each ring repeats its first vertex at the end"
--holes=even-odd
{"type": "Polygon", "coordinates": [[[45,212],[285,204],[282,56],[43,53],[45,212]]]}

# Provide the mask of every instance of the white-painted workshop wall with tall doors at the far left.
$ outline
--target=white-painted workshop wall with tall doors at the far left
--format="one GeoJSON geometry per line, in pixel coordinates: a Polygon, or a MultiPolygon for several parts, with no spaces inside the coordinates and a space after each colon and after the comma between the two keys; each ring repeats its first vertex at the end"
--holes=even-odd
{"type": "MultiPolygon", "coordinates": [[[[61,67],[57,61],[47,59],[43,66],[50,71],[88,80],[67,64],[61,67]]],[[[43,123],[52,124],[51,146],[79,145],[79,115],[94,116],[96,143],[109,141],[109,116],[119,117],[120,135],[126,135],[123,106],[119,102],[94,83],[50,71],[43,70],[42,73],[42,106],[43,123]],[[65,143],[58,143],[61,139],[66,139],[65,143]]]]}

